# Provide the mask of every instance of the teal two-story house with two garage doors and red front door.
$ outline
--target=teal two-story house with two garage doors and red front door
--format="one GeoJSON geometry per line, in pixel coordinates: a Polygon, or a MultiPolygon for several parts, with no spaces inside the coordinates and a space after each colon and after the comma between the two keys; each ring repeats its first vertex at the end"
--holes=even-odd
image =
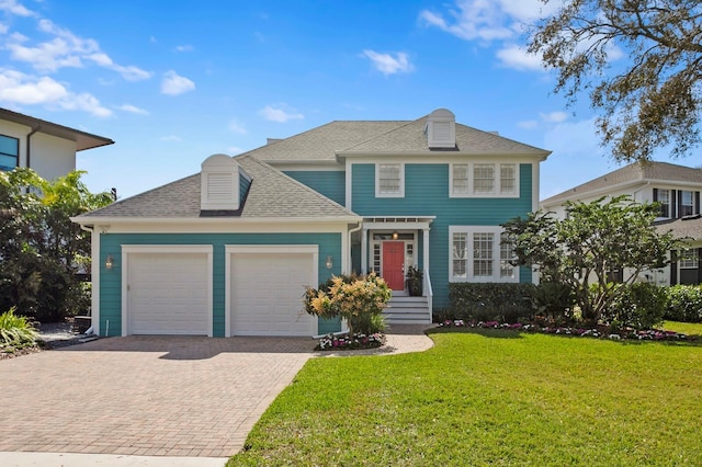
{"type": "Polygon", "coordinates": [[[93,230],[94,331],[338,331],[309,317],[302,295],[351,271],[386,280],[394,322],[430,322],[451,282],[532,282],[509,264],[500,224],[536,209],[548,153],[438,110],[212,156],[201,173],[73,219],[93,230]],[[406,303],[412,265],[423,296],[406,303]]]}

